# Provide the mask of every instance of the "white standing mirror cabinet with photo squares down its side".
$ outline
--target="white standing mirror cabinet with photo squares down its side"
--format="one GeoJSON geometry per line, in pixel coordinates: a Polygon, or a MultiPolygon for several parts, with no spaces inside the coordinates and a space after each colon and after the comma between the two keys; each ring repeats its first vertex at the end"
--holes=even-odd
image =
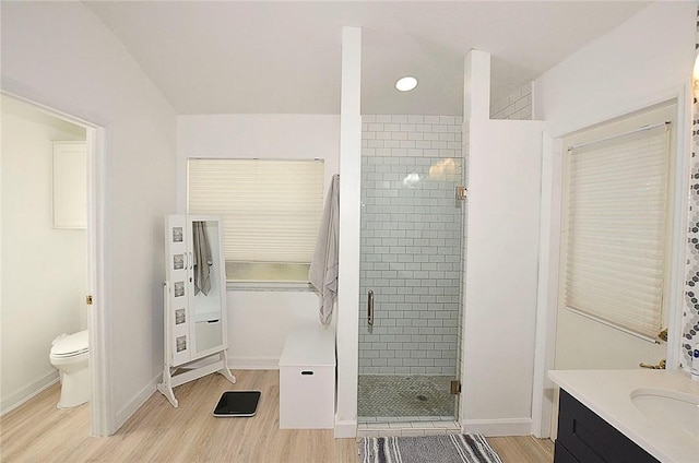
{"type": "Polygon", "coordinates": [[[228,333],[223,222],[217,216],[170,215],[165,224],[165,367],[158,390],[173,405],[173,388],[227,368],[228,333]],[[218,355],[201,368],[175,367],[218,355]]]}

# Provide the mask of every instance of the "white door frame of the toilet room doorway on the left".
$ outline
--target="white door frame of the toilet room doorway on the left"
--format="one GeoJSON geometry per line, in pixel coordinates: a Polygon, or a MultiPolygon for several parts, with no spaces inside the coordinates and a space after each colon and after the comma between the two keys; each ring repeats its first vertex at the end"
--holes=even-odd
{"type": "Polygon", "coordinates": [[[4,96],[32,105],[37,110],[85,129],[87,145],[87,293],[92,308],[87,310],[90,336],[90,434],[109,436],[114,430],[111,388],[109,380],[109,311],[105,280],[106,219],[106,150],[105,129],[12,92],[0,88],[4,96]]]}

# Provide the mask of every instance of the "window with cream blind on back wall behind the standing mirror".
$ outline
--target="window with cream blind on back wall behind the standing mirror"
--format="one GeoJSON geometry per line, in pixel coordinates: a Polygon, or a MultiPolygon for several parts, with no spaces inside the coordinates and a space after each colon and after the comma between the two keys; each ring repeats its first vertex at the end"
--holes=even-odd
{"type": "Polygon", "coordinates": [[[224,218],[228,280],[308,281],[322,161],[192,158],[187,177],[188,212],[224,218]]]}

